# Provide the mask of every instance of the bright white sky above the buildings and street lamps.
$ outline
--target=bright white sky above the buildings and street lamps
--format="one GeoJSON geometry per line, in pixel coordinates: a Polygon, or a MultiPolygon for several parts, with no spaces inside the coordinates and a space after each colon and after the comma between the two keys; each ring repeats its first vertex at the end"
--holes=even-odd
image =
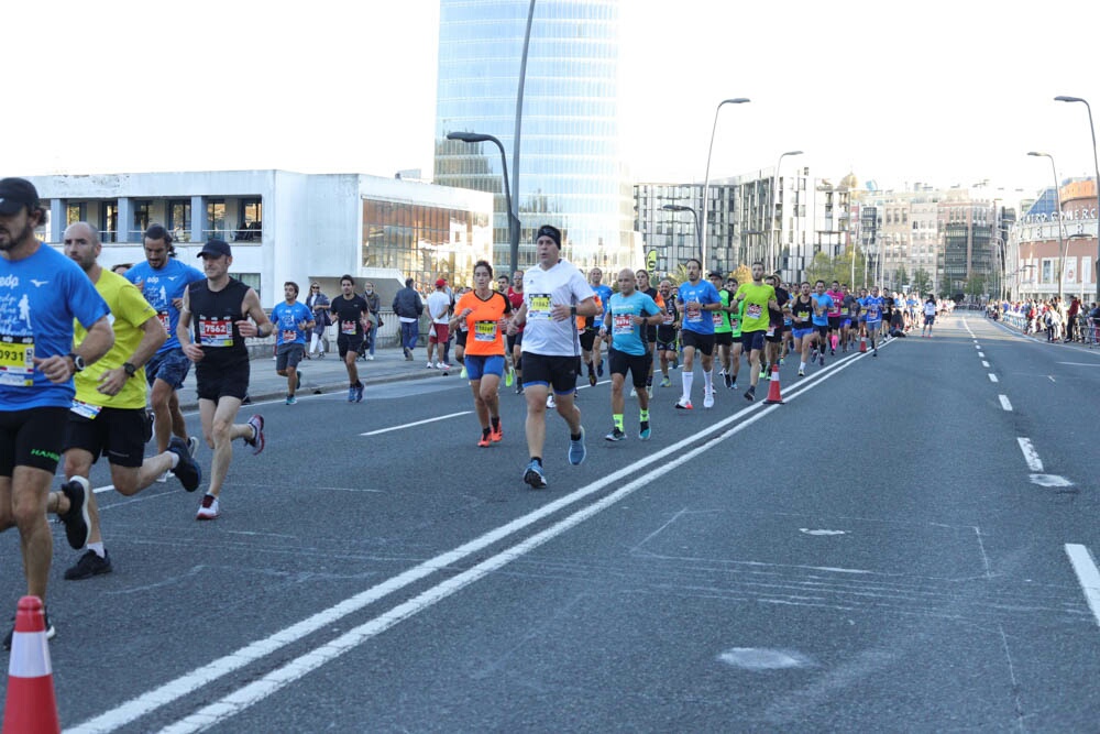
{"type": "MultiPolygon", "coordinates": [[[[525,7],[525,0],[516,0],[525,7]]],[[[438,0],[47,1],[8,9],[2,175],[431,173],[438,0]],[[13,77],[9,76],[9,81],[13,77]],[[22,100],[23,103],[20,103],[22,100]]],[[[622,0],[638,182],[811,166],[838,183],[1031,196],[1090,176],[1100,3],[622,0]]],[[[532,35],[538,34],[538,6],[532,35]]],[[[518,69],[517,69],[518,72],[518,69]]]]}

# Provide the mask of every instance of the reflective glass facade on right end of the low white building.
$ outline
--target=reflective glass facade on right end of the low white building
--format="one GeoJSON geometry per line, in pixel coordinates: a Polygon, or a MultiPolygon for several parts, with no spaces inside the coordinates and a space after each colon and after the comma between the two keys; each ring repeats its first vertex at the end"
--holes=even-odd
{"type": "Polygon", "coordinates": [[[394,269],[420,287],[438,277],[472,286],[474,263],[492,252],[492,230],[482,213],[363,199],[361,252],[363,267],[394,269]]]}

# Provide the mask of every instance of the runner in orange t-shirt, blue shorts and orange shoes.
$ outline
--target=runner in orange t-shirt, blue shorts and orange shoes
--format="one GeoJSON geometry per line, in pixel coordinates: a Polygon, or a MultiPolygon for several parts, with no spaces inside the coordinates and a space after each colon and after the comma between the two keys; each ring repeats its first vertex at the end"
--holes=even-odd
{"type": "Polygon", "coordinates": [[[481,423],[482,435],[477,446],[487,448],[504,438],[501,427],[501,397],[497,388],[504,375],[504,339],[501,325],[512,314],[508,297],[490,288],[493,266],[484,260],[474,263],[474,289],[459,298],[450,327],[466,325],[465,360],[470,390],[474,394],[474,410],[481,423]]]}

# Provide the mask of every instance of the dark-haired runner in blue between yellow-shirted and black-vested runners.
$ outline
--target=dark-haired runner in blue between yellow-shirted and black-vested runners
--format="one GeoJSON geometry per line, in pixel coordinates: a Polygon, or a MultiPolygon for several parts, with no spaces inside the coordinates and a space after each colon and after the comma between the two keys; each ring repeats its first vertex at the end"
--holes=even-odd
{"type": "MultiPolygon", "coordinates": [[[[145,376],[152,387],[148,401],[153,409],[156,451],[164,453],[168,449],[168,438],[175,435],[187,442],[194,454],[199,440],[187,435],[187,423],[179,410],[177,395],[191,363],[180,349],[176,326],[179,324],[184,291],[204,276],[199,270],[176,260],[172,234],[161,224],[151,224],[145,230],[144,249],[145,262],[127,271],[125,278],[136,285],[145,300],[156,309],[156,317],[168,335],[167,341],[145,365],[145,376]]],[[[166,480],[167,475],[161,478],[161,481],[166,480]]]]}

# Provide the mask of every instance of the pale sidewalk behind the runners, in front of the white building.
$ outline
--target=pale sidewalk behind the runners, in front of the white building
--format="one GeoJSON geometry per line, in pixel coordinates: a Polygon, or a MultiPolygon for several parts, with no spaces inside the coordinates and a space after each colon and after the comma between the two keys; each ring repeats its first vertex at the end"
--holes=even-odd
{"type": "MultiPolygon", "coordinates": [[[[451,344],[451,360],[452,362],[454,360],[454,344],[451,344]]],[[[441,370],[426,369],[427,362],[428,357],[424,348],[418,348],[414,352],[414,360],[409,362],[405,359],[400,347],[380,347],[375,350],[373,362],[359,359],[356,365],[359,366],[359,379],[365,385],[442,376],[441,370]]],[[[450,376],[458,380],[462,365],[454,363],[451,368],[450,376]]],[[[336,352],[327,353],[324,359],[302,360],[298,365],[298,371],[301,374],[301,387],[297,391],[298,395],[348,391],[348,369],[336,352]]],[[[275,373],[275,360],[272,359],[271,351],[267,350],[266,357],[253,358],[249,379],[249,397],[253,401],[268,401],[285,395],[286,377],[275,373]]],[[[179,406],[185,410],[198,408],[198,397],[195,393],[195,365],[191,365],[187,373],[187,380],[184,381],[184,387],[179,391],[179,406]]]]}

